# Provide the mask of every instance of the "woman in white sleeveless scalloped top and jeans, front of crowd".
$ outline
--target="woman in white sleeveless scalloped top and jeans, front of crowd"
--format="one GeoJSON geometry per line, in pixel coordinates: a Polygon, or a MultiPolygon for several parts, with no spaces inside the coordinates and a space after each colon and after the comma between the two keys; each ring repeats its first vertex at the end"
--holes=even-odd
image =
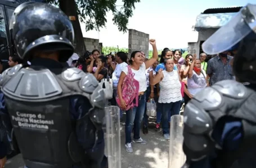
{"type": "Polygon", "coordinates": [[[161,121],[164,138],[170,139],[169,130],[169,116],[179,114],[181,105],[181,77],[179,72],[174,70],[174,60],[172,58],[165,59],[164,65],[166,70],[160,69],[158,74],[153,78],[151,85],[159,83],[160,94],[158,99],[158,106],[161,106],[161,121]]]}

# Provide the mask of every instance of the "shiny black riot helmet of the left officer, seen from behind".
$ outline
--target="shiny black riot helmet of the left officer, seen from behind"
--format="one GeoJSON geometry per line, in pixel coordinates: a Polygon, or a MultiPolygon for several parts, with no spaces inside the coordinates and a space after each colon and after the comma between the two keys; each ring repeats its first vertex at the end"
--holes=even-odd
{"type": "Polygon", "coordinates": [[[17,54],[31,59],[33,51],[60,52],[60,62],[74,53],[74,29],[64,12],[47,3],[26,2],[14,11],[10,30],[17,54]]]}

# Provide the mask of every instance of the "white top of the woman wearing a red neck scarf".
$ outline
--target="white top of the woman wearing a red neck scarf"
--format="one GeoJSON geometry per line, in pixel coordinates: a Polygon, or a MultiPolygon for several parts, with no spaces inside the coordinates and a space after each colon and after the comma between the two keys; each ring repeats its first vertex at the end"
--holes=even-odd
{"type": "Polygon", "coordinates": [[[200,90],[203,90],[207,86],[205,77],[205,71],[201,69],[200,75],[196,74],[195,71],[193,71],[192,77],[187,78],[187,90],[190,92],[191,95],[195,95],[200,90]]]}

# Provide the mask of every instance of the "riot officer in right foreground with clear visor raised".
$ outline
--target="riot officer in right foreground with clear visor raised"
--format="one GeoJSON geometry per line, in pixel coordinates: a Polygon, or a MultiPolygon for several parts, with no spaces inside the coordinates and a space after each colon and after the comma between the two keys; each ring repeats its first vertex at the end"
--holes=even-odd
{"type": "Polygon", "coordinates": [[[184,112],[183,167],[256,167],[256,5],[241,8],[203,44],[207,54],[236,49],[236,81],[206,87],[184,112]]]}

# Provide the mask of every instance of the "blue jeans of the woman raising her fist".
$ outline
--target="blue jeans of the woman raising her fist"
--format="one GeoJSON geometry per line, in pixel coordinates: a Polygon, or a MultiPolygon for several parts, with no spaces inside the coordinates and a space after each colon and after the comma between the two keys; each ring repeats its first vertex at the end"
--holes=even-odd
{"type": "Polygon", "coordinates": [[[134,123],[134,139],[140,139],[140,127],[146,106],[146,94],[139,96],[138,106],[126,111],[125,144],[131,143],[132,125],[134,123]]]}

